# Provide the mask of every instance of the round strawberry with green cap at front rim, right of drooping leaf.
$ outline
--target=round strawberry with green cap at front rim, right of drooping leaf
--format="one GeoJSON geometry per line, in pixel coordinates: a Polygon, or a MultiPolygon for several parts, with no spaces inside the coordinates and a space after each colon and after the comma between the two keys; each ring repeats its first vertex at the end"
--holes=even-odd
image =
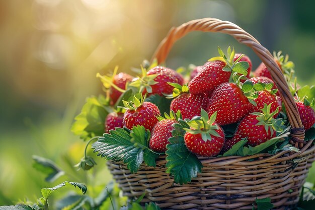
{"type": "Polygon", "coordinates": [[[224,132],[215,121],[216,112],[210,119],[205,110],[201,117],[195,117],[187,122],[190,128],[184,128],[184,141],[187,149],[196,155],[213,157],[220,153],[224,144],[224,132]]]}

